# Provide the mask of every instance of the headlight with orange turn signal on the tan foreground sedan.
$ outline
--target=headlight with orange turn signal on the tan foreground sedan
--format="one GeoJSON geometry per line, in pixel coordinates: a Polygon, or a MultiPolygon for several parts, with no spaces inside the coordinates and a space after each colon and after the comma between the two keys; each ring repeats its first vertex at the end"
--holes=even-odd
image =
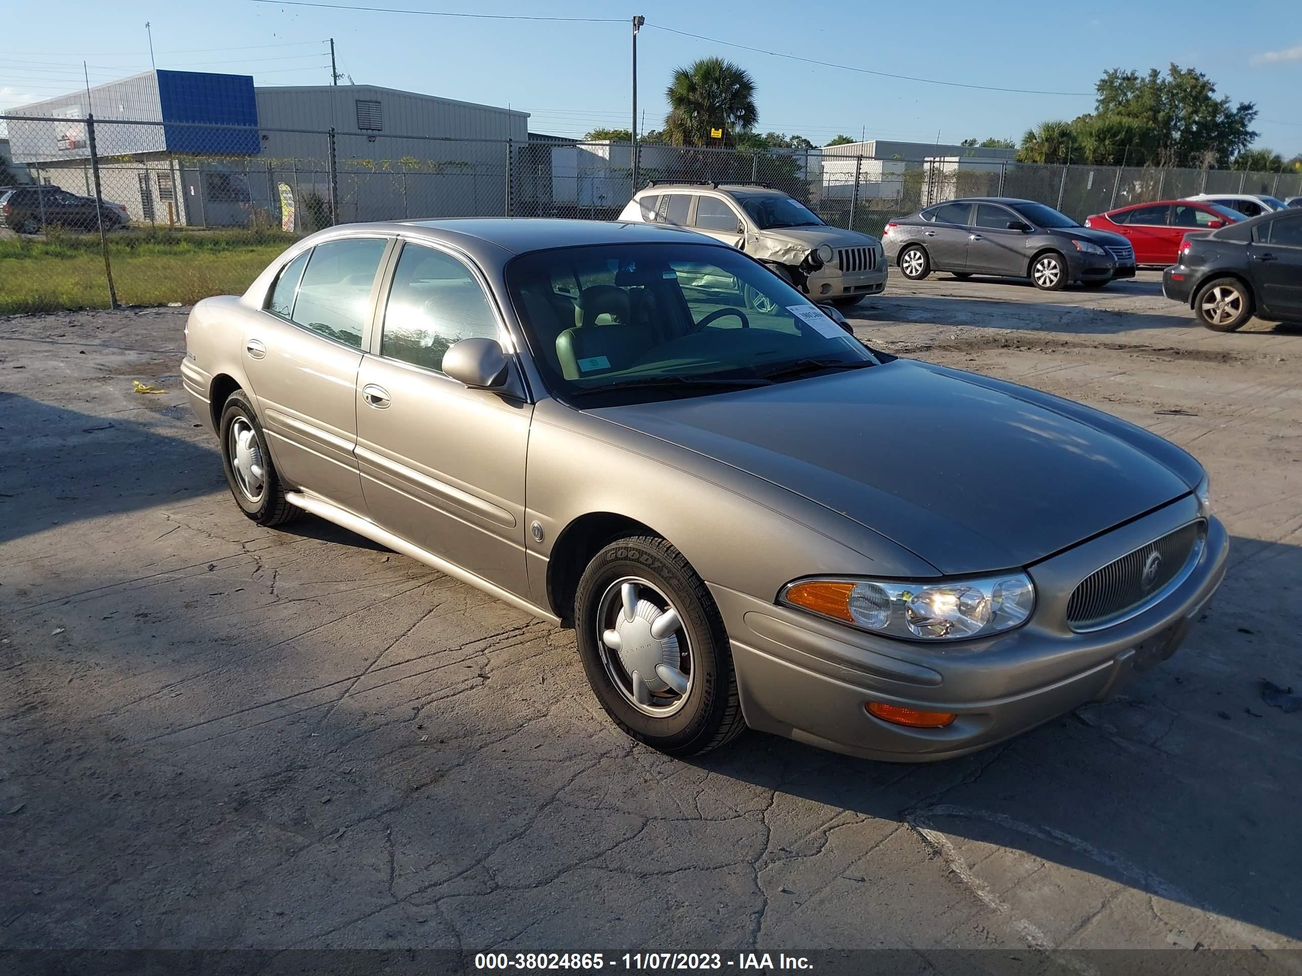
{"type": "Polygon", "coordinates": [[[801,579],[777,601],[859,630],[905,640],[963,640],[1021,626],[1035,608],[1025,573],[935,583],[801,579]]]}

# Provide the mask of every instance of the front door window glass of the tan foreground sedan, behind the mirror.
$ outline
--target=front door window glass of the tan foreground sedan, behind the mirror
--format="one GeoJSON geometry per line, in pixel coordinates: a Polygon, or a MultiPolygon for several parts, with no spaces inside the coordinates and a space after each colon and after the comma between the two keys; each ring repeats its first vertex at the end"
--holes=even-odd
{"type": "Polygon", "coordinates": [[[384,308],[380,355],[443,371],[453,342],[496,338],[497,320],[470,269],[443,251],[405,245],[384,308]]]}

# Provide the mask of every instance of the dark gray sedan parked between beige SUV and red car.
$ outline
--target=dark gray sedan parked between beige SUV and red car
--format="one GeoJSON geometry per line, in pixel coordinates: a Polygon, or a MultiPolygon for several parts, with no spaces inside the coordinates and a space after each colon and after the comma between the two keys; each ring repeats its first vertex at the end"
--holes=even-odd
{"type": "Polygon", "coordinates": [[[1101,288],[1135,275],[1135,252],[1121,234],[1094,230],[1032,200],[973,197],[900,217],[881,233],[887,258],[906,278],[932,271],[1029,277],[1056,291],[1101,288]]]}

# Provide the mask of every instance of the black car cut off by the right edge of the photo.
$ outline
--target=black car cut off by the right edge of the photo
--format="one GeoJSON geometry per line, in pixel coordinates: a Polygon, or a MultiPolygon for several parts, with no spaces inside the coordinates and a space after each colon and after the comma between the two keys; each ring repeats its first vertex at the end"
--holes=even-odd
{"type": "Polygon", "coordinates": [[[1210,329],[1233,332],[1254,315],[1302,323],[1302,211],[1189,233],[1176,260],[1161,275],[1161,293],[1210,329]]]}

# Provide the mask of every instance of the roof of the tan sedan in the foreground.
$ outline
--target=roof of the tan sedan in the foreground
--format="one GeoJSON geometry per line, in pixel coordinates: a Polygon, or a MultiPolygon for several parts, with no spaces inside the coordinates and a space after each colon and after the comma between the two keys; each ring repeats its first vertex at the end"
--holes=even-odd
{"type": "MultiPolygon", "coordinates": [[[[687,228],[641,221],[565,220],[556,217],[466,217],[457,220],[409,220],[395,225],[349,224],[362,226],[415,226],[431,232],[431,237],[449,242],[466,238],[496,245],[512,254],[546,251],[553,247],[583,247],[612,243],[717,243],[710,237],[687,228]]],[[[723,245],[727,246],[727,245],[723,245]]]]}

